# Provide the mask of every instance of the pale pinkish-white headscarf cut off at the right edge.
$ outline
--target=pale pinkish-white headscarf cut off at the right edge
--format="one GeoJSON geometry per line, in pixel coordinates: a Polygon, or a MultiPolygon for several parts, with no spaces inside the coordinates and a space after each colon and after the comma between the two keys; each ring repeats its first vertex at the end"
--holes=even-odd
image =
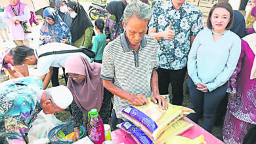
{"type": "MultiPolygon", "coordinates": [[[[256,22],[253,23],[253,29],[256,30],[256,22]]],[[[244,41],[248,43],[253,54],[255,54],[255,58],[253,61],[253,67],[251,68],[250,79],[256,79],[256,33],[252,33],[243,38],[244,41]]]]}

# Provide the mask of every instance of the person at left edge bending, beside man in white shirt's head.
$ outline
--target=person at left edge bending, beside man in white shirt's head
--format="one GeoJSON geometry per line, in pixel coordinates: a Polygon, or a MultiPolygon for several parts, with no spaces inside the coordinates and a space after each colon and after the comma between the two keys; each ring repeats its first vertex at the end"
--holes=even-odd
{"type": "Polygon", "coordinates": [[[6,50],[0,50],[0,74],[3,69],[7,69],[11,77],[23,77],[23,75],[16,71],[14,67],[13,59],[12,59],[12,49],[7,48],[6,50]]]}

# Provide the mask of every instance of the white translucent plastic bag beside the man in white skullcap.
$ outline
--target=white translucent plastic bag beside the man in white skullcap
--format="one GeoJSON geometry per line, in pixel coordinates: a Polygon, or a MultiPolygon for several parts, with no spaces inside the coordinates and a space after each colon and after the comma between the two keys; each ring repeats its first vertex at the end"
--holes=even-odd
{"type": "Polygon", "coordinates": [[[37,114],[37,119],[33,121],[32,128],[28,132],[28,141],[30,144],[49,143],[48,133],[55,126],[65,124],[58,120],[54,115],[45,115],[43,111],[37,114]]]}

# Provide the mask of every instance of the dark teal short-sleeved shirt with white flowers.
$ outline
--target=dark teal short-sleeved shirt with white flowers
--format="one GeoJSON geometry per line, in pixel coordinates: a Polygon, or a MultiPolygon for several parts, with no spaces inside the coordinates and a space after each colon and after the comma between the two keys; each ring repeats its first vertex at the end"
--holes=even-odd
{"type": "Polygon", "coordinates": [[[190,37],[196,36],[203,29],[200,10],[184,2],[179,9],[175,9],[171,1],[160,1],[153,8],[150,27],[156,32],[165,31],[169,25],[175,31],[172,41],[160,39],[158,41],[159,67],[178,70],[186,67],[190,50],[190,37]]]}

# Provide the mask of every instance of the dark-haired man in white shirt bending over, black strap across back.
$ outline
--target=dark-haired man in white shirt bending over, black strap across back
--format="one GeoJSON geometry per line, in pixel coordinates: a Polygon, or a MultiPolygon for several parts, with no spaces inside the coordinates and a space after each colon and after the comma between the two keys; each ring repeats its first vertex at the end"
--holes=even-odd
{"type": "Polygon", "coordinates": [[[46,45],[39,46],[39,48],[32,49],[28,46],[16,46],[13,50],[13,60],[16,65],[37,65],[37,77],[40,77],[43,81],[43,89],[47,88],[51,77],[53,75],[52,67],[64,67],[65,62],[69,56],[82,55],[88,58],[82,52],[70,52],[64,54],[53,54],[53,51],[60,50],[77,50],[75,46],[67,45],[64,43],[48,43],[46,45]],[[50,52],[50,55],[42,56],[50,52]]]}

